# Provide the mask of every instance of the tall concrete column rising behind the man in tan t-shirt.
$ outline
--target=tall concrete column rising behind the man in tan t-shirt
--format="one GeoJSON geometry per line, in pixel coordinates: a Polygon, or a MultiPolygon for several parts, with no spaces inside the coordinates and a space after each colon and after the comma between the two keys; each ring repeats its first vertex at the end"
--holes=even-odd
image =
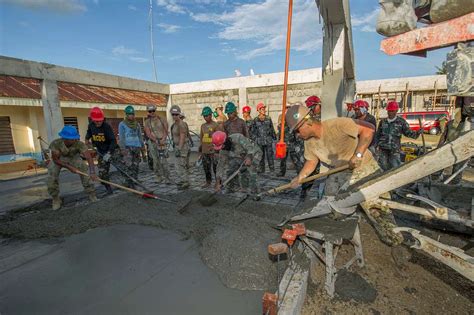
{"type": "Polygon", "coordinates": [[[344,78],[344,24],[325,25],[321,119],[341,117],[346,98],[344,78]]]}

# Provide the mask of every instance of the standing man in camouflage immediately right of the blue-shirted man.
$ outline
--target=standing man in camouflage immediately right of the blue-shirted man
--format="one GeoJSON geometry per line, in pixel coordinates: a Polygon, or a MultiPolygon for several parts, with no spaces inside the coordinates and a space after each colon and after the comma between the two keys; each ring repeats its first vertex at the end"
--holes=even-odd
{"type": "Polygon", "coordinates": [[[166,139],[168,137],[168,122],[156,114],[156,106],[147,106],[148,117],[145,119],[145,134],[148,138],[148,146],[153,159],[153,170],[157,182],[171,183],[168,168],[168,149],[166,139]]]}

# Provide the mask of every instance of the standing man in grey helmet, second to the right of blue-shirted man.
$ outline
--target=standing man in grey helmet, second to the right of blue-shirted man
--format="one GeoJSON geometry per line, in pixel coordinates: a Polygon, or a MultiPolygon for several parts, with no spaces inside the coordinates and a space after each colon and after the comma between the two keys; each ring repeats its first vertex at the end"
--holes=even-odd
{"type": "Polygon", "coordinates": [[[176,185],[178,190],[186,190],[189,188],[189,169],[187,167],[187,157],[189,152],[189,129],[181,116],[181,108],[178,105],[171,106],[171,116],[173,117],[173,125],[171,125],[171,137],[174,144],[175,168],[178,178],[176,185]]]}

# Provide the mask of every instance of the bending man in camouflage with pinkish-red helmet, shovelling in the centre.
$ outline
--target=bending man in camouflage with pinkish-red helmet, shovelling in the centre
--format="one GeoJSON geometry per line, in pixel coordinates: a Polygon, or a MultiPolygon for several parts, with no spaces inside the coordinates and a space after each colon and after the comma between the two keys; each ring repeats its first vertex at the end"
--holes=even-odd
{"type": "MultiPolygon", "coordinates": [[[[227,167],[227,176],[232,175],[243,163],[240,171],[241,175],[247,177],[243,189],[248,194],[256,196],[258,194],[257,165],[262,158],[262,151],[249,138],[240,133],[227,136],[222,131],[216,131],[212,135],[214,151],[219,152],[217,163],[217,184],[216,191],[221,189],[227,167]]],[[[238,187],[238,181],[234,178],[227,186],[229,192],[233,192],[238,187]]]]}

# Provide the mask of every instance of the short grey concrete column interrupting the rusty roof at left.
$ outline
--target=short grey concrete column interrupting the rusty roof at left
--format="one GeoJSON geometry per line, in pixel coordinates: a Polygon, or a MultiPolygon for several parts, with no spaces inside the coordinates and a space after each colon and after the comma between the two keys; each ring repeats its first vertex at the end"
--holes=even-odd
{"type": "Polygon", "coordinates": [[[56,81],[48,79],[41,81],[41,103],[43,105],[48,141],[51,142],[58,138],[58,132],[64,127],[56,81]]]}

